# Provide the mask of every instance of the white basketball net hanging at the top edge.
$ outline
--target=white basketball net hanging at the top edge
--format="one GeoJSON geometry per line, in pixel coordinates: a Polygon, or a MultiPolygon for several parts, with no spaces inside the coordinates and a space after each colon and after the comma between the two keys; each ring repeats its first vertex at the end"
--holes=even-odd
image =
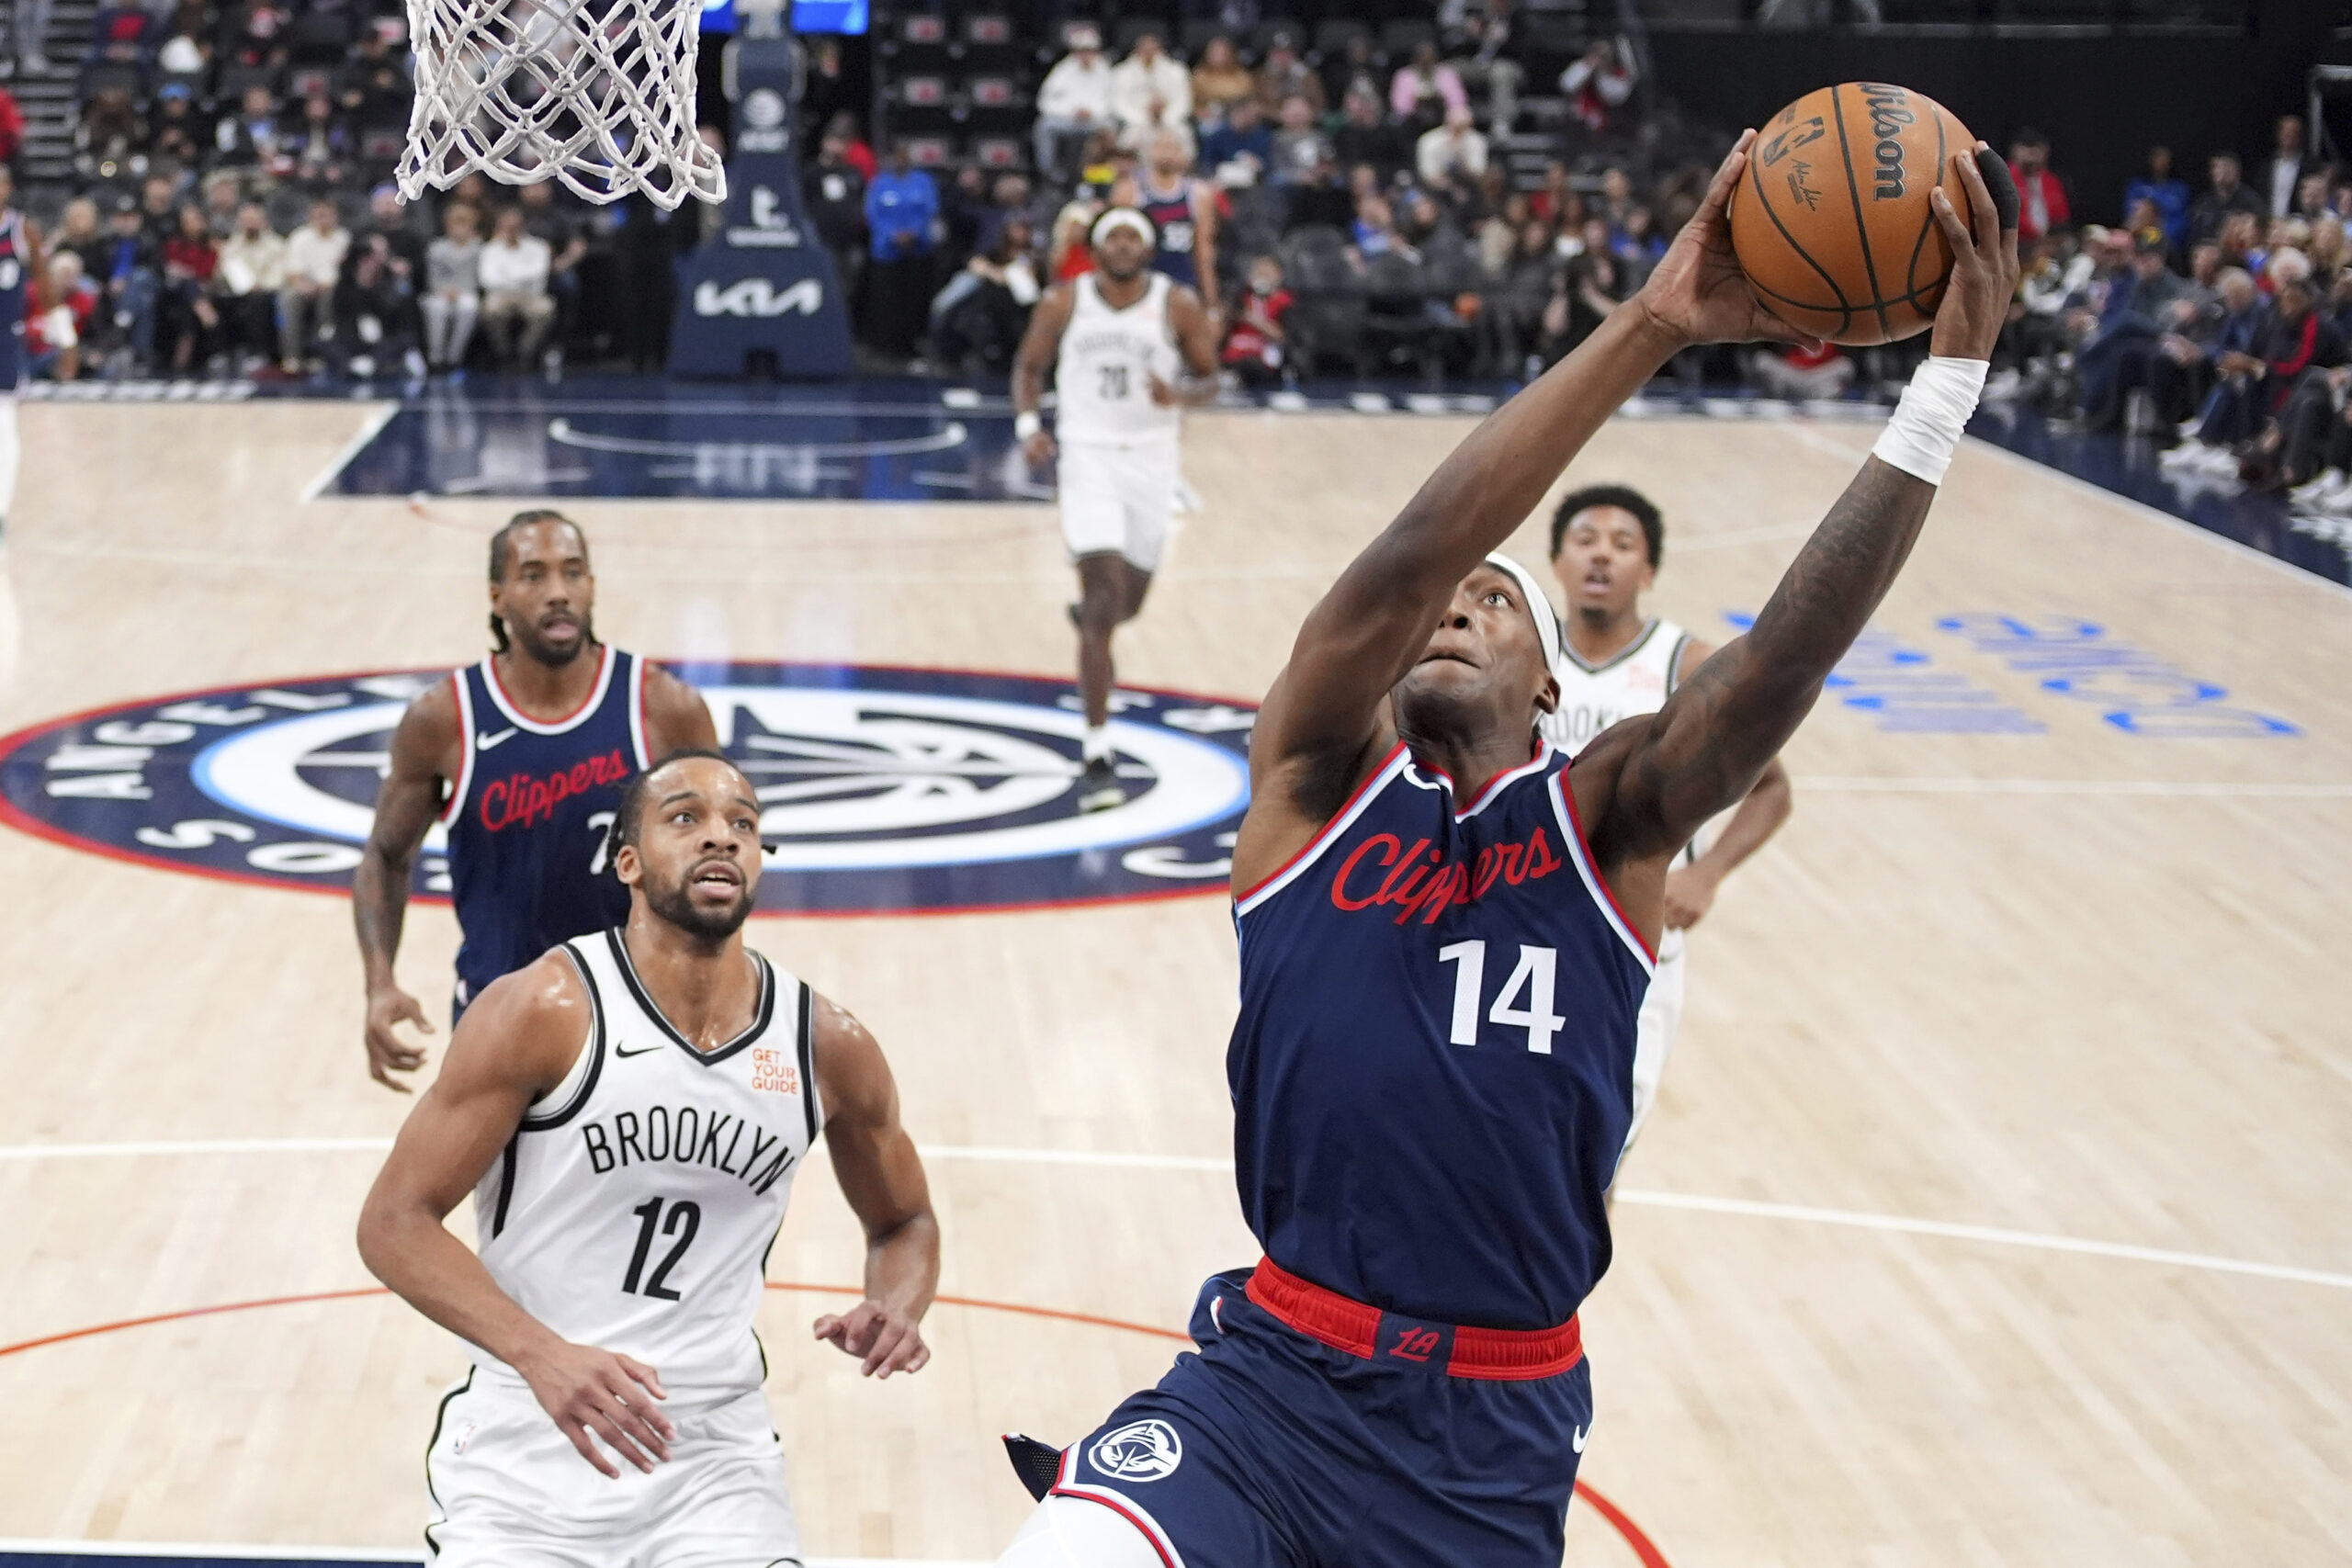
{"type": "Polygon", "coordinates": [[[727,197],[694,129],[699,0],[409,0],[416,106],[400,193],[473,172],[590,202],[727,197]]]}

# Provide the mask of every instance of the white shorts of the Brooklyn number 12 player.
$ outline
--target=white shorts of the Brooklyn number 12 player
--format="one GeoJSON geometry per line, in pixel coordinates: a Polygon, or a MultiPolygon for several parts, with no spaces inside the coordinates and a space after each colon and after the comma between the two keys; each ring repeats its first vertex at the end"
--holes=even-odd
{"type": "Polygon", "coordinates": [[[442,1399],[426,1450],[433,1568],[797,1566],[767,1396],[673,1396],[663,1413],[677,1425],[668,1462],[654,1474],[623,1462],[612,1481],[527,1387],[470,1375],[442,1399]]]}

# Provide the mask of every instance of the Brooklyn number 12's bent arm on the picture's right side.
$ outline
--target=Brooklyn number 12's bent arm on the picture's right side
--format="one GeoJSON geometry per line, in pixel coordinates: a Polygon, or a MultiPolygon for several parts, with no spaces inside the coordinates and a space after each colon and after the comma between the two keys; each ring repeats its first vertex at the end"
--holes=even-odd
{"type": "Polygon", "coordinates": [[[898,1084],[866,1025],[816,999],[816,1100],[842,1197],[866,1227],[866,1300],[816,1319],[816,1338],[861,1359],[868,1378],[920,1373],[931,1359],[922,1314],[938,1291],[938,1220],[915,1140],[898,1126],[898,1084]]]}

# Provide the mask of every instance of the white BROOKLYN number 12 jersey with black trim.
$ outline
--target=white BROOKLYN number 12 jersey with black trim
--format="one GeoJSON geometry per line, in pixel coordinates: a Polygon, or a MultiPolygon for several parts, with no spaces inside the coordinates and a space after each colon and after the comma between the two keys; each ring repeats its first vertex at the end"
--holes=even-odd
{"type": "Polygon", "coordinates": [[[593,1001],[588,1044],[475,1187],[482,1265],[541,1324],[644,1361],[673,1396],[755,1389],[767,1248],[821,1126],[811,992],[753,954],[750,1027],[696,1051],[619,929],[564,952],[593,1001]]]}

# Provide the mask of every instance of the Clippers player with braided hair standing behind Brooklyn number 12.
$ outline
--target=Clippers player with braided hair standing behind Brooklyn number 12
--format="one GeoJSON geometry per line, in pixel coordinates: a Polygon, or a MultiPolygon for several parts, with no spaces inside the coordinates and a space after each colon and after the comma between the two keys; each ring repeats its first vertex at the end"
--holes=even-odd
{"type": "Polygon", "coordinates": [[[433,1032],[393,961],[409,910],[409,867],[440,820],[449,837],[456,950],[454,1025],[499,976],[628,914],[604,865],[621,785],[656,757],[717,745],[694,686],[595,639],[588,538],[562,512],[532,510],[489,541],[489,635],[496,651],[409,703],[393,731],[376,823],[350,879],[367,976],[367,1074],[426,1053],[395,1027],[433,1032]]]}

